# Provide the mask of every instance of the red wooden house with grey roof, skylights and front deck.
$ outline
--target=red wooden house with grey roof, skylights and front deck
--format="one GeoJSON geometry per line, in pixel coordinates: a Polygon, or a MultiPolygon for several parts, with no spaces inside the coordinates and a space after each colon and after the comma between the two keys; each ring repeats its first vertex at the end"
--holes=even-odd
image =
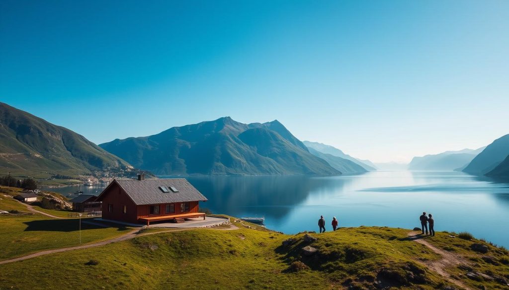
{"type": "Polygon", "coordinates": [[[200,191],[183,178],[113,180],[96,201],[102,202],[102,218],[129,223],[201,217],[198,202],[207,201],[200,191]]]}

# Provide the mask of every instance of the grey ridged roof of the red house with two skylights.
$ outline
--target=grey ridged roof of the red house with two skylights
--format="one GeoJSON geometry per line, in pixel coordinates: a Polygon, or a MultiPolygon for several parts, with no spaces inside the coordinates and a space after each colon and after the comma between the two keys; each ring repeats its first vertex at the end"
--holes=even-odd
{"type": "MultiPolygon", "coordinates": [[[[177,203],[177,202],[191,202],[191,201],[206,201],[207,198],[203,196],[194,186],[191,185],[184,178],[171,178],[171,179],[115,179],[111,182],[117,183],[124,189],[126,194],[136,205],[148,204],[163,204],[163,203],[177,203]],[[168,189],[174,187],[177,192],[167,190],[163,192],[159,187],[164,186],[168,189]]],[[[110,184],[110,185],[111,185],[110,184]]],[[[108,190],[106,187],[98,197],[101,200],[104,192],[108,190]]]]}

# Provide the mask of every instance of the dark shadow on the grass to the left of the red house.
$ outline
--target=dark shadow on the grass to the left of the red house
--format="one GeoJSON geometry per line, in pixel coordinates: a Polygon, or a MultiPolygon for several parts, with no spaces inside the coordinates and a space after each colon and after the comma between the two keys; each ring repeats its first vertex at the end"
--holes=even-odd
{"type": "MultiPolygon", "coordinates": [[[[108,227],[100,227],[99,225],[84,223],[88,220],[81,219],[81,230],[96,230],[96,229],[117,229],[117,231],[126,231],[126,227],[114,227],[108,224],[108,227]]],[[[46,231],[46,232],[77,232],[79,230],[79,219],[42,219],[23,222],[27,225],[25,232],[31,231],[46,231]]]]}

